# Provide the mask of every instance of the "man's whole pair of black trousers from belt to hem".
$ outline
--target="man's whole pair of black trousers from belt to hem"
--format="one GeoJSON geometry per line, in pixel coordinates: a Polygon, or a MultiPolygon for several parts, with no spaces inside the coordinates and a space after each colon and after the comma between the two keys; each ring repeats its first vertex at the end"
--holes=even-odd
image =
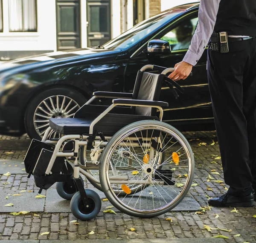
{"type": "Polygon", "coordinates": [[[207,74],[228,193],[256,189],[256,38],[208,49],[207,74]]]}

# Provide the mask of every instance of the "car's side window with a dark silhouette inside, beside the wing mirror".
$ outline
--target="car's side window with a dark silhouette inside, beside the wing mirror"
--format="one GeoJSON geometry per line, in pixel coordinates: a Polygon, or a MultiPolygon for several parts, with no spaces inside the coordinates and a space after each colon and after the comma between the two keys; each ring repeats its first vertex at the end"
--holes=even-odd
{"type": "Polygon", "coordinates": [[[186,19],[160,39],[168,41],[172,51],[189,49],[197,24],[198,17],[186,19]]]}

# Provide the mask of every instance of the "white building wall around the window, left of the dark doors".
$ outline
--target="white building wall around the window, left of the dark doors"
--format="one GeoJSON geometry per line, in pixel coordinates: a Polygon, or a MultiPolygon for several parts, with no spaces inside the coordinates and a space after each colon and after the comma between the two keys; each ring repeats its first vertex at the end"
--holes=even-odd
{"type": "MultiPolygon", "coordinates": [[[[37,1],[37,32],[9,32],[8,0],[3,0],[3,33],[0,33],[0,58],[8,57],[6,51],[46,52],[56,50],[55,1],[37,1]]],[[[12,57],[11,57],[12,59],[12,57]]]]}

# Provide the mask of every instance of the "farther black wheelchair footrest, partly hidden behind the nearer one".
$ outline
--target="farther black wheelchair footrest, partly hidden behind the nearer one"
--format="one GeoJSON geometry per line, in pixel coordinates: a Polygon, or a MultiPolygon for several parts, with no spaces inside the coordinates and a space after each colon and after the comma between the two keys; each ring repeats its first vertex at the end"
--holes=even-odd
{"type": "Polygon", "coordinates": [[[24,158],[26,173],[32,174],[42,149],[53,151],[54,146],[49,145],[47,143],[43,143],[36,139],[32,139],[29,149],[24,158]]]}

